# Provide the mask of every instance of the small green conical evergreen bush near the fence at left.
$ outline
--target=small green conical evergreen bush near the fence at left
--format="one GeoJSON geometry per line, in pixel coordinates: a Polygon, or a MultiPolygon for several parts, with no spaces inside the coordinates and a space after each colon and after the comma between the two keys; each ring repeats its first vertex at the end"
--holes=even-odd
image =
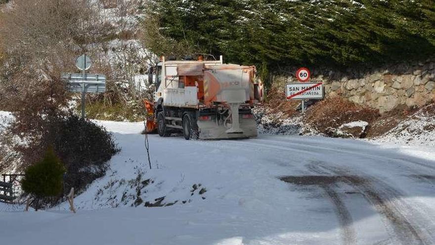
{"type": "Polygon", "coordinates": [[[64,165],[54,154],[53,148],[49,147],[41,161],[26,169],[21,183],[23,191],[38,199],[60,196],[64,172],[64,165]]]}

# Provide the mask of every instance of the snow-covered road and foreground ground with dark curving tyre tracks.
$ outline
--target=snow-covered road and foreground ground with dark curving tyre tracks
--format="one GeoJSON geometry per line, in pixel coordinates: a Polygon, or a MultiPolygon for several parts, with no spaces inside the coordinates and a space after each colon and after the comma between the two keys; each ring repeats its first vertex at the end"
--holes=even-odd
{"type": "Polygon", "coordinates": [[[431,147],[301,136],[185,141],[150,135],[149,169],[138,134],[143,124],[100,123],[122,151],[107,175],[76,198],[78,213],[65,204],[0,212],[1,244],[435,243],[431,147]],[[147,202],[174,205],[144,207],[147,202]]]}

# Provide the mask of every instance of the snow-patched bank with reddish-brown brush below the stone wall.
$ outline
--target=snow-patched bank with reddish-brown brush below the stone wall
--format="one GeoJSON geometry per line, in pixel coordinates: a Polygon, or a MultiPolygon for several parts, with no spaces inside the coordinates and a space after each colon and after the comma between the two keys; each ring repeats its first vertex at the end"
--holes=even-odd
{"type": "MultiPolygon", "coordinates": [[[[308,110],[310,109],[308,108],[308,110]]],[[[318,122],[309,122],[300,113],[288,116],[283,112],[274,113],[267,107],[257,107],[254,113],[257,117],[259,133],[262,134],[360,138],[363,134],[367,134],[367,131],[372,130],[377,131],[376,137],[365,137],[363,140],[375,144],[435,146],[435,103],[421,106],[407,116],[390,113],[380,116],[370,123],[364,120],[352,121],[346,118],[347,123],[328,128],[329,134],[318,132],[318,125],[316,125],[318,122]],[[394,126],[390,127],[390,124],[394,126]],[[389,130],[385,130],[389,127],[389,130]]],[[[331,121],[336,119],[331,118],[331,121]]]]}

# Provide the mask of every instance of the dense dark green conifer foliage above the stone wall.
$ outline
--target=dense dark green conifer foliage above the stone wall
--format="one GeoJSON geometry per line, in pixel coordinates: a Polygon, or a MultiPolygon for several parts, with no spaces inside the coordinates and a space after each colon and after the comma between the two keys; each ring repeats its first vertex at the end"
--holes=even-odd
{"type": "MultiPolygon", "coordinates": [[[[158,0],[148,19],[189,49],[261,67],[423,60],[435,51],[433,0],[158,0]]],[[[145,28],[146,28],[145,23],[145,28]]],[[[151,47],[158,54],[161,46],[151,47]]]]}

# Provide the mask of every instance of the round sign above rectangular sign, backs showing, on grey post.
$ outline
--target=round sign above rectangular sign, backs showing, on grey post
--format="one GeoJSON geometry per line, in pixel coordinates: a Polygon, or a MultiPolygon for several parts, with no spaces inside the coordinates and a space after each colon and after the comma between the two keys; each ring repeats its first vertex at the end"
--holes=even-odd
{"type": "Polygon", "coordinates": [[[85,118],[86,93],[104,93],[106,91],[106,76],[103,74],[86,74],[91,60],[86,54],[76,59],[76,66],[82,73],[62,73],[61,79],[67,81],[68,90],[82,94],[82,118],[85,118]]]}

